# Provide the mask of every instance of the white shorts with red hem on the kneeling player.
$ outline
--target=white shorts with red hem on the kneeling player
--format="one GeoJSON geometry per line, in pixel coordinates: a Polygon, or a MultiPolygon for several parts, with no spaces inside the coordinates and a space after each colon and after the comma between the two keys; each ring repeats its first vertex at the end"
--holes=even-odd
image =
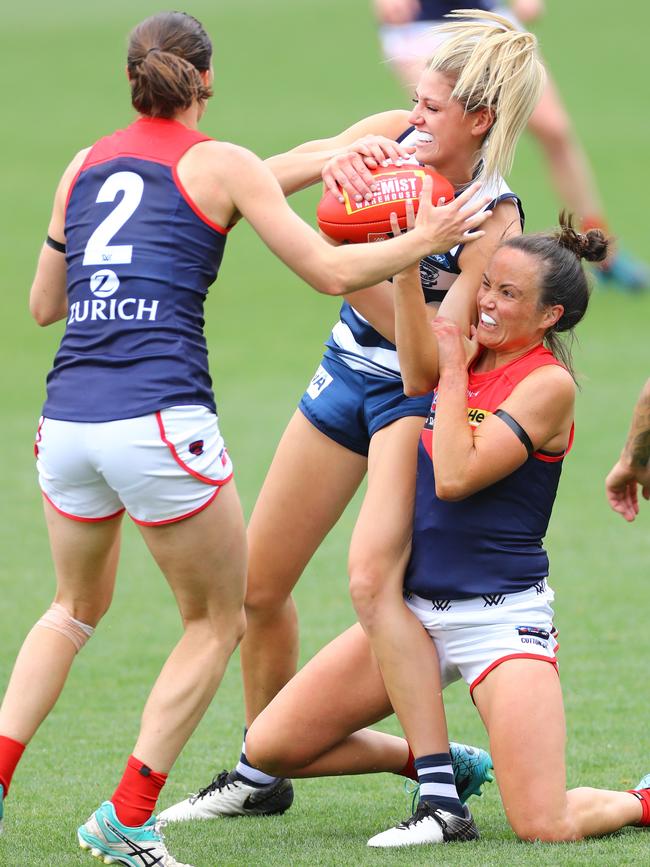
{"type": "Polygon", "coordinates": [[[557,669],[557,630],[546,581],[520,593],[472,599],[405,601],[438,651],[443,687],[462,678],[474,688],[508,659],[541,659],[557,669]]]}

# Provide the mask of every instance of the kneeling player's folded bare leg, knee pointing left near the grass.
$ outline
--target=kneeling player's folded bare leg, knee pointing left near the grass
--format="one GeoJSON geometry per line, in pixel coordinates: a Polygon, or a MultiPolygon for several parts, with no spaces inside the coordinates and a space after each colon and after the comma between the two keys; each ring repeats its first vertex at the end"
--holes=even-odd
{"type": "Polygon", "coordinates": [[[399,773],[408,759],[406,741],[360,731],[391,711],[368,638],[356,624],[319,651],[262,711],[246,736],[246,754],[277,776],[399,773]]]}

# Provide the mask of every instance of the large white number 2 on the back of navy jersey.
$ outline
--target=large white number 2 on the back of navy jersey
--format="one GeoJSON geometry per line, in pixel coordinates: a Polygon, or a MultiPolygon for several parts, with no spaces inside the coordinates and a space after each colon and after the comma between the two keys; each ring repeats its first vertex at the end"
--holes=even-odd
{"type": "Polygon", "coordinates": [[[129,217],[133,216],[142,199],[144,181],[135,172],[115,172],[97,193],[98,202],[114,202],[118,193],[122,199],[108,217],[97,226],[86,244],[84,265],[128,265],[133,256],[132,244],[110,244],[129,217]]]}

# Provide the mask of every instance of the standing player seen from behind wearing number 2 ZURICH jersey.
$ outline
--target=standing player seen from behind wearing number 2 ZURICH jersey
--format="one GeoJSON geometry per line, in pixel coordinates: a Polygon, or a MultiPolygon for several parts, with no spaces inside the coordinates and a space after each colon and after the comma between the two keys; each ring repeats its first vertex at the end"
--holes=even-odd
{"type": "Polygon", "coordinates": [[[30,295],[40,325],[67,320],[36,442],[57,590],[0,709],[0,815],[25,745],[110,605],[125,511],[184,627],[116,791],[78,832],[107,863],[177,864],[153,810],[244,632],[244,523],[203,335],[230,228],[245,217],[307,283],[338,295],[449,249],[484,220],[455,203],[433,208],[429,186],[412,237],[331,247],[289,208],[264,163],[198,131],[211,55],[184,13],[134,29],[127,70],[139,117],[65,171],[30,295]]]}

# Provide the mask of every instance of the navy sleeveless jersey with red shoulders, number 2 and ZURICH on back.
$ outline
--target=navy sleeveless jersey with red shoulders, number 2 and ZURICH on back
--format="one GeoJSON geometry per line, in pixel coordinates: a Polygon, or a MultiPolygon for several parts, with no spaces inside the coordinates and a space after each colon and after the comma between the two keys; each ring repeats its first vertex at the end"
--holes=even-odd
{"type": "Polygon", "coordinates": [[[216,411],[203,304],[227,230],[192,202],[180,158],[208,140],[140,118],[100,139],[66,205],[68,319],[43,415],[133,418],[178,405],[216,411]]]}

